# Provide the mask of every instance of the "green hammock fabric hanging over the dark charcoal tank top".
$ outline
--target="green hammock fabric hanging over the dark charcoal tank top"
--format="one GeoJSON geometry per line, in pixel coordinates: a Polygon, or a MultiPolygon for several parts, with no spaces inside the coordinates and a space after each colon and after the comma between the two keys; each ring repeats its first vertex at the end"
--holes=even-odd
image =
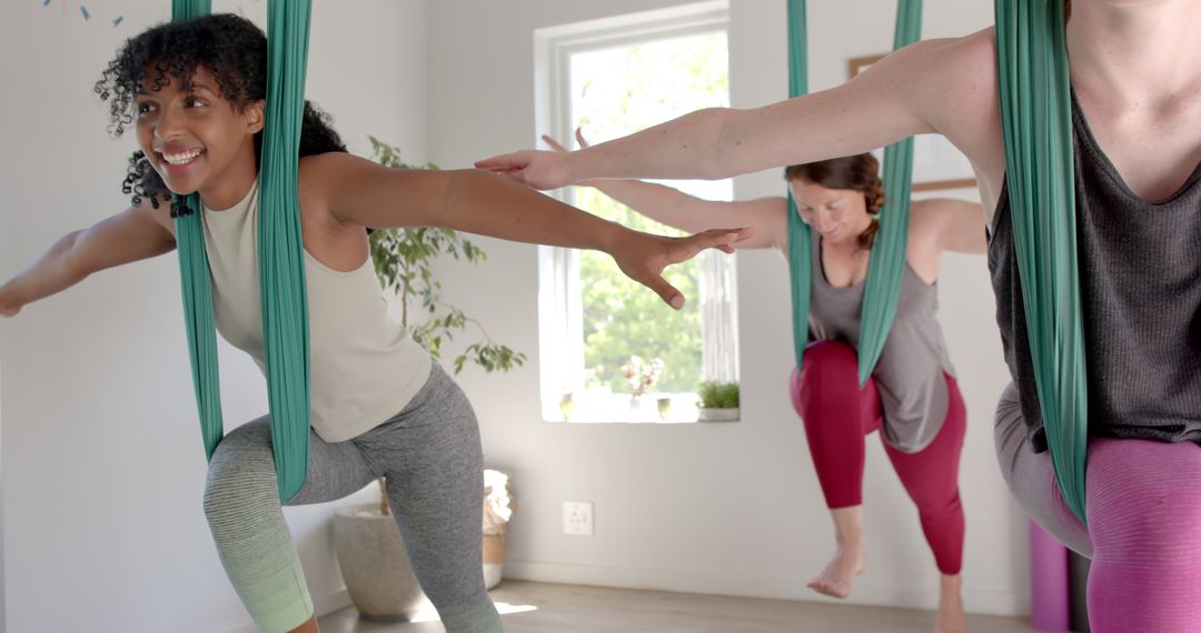
{"type": "Polygon", "coordinates": [[[1017,271],[1051,462],[1085,519],[1088,382],[1076,263],[1063,0],[997,0],[997,73],[1017,271]]]}

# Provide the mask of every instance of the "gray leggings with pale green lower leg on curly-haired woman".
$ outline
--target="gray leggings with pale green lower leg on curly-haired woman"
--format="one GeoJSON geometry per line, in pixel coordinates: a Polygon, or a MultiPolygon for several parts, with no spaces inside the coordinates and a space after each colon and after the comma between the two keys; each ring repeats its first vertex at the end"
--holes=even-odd
{"type": "MultiPolygon", "coordinates": [[[[378,427],[339,444],[311,434],[305,486],[288,505],[341,499],[381,476],[413,569],[447,632],[500,632],[480,565],[479,427],[466,396],[436,364],[412,402],[378,427]]],[[[217,446],[204,512],[226,573],[259,628],[285,632],[312,617],[280,507],[268,417],[217,446]]]]}

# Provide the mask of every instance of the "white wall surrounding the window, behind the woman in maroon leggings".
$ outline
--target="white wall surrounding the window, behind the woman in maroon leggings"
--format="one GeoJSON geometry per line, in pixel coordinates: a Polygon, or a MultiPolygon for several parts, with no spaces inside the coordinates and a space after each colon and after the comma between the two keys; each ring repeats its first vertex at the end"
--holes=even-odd
{"type": "MultiPolygon", "coordinates": [[[[679,0],[483,2],[429,11],[430,157],[443,167],[536,140],[533,29],[685,4],[679,0]],[[470,19],[468,19],[470,18],[470,19]]],[[[784,2],[731,5],[735,107],[787,96],[784,2]]],[[[927,37],[991,23],[987,0],[926,2],[927,37]]],[[[809,2],[813,90],[844,79],[847,60],[886,52],[892,4],[809,2]],[[886,8],[884,7],[885,5],[886,8]],[[883,8],[883,11],[882,11],[883,8]]],[[[737,179],[740,198],[781,194],[778,170],[737,179]]],[[[956,192],[973,195],[973,192],[956,192]]],[[[497,340],[532,362],[507,375],[466,372],[488,463],[513,475],[520,504],[509,537],[513,577],[781,598],[832,553],[832,529],[787,397],[791,368],[787,272],[771,253],[739,254],[743,420],[737,424],[554,424],[539,416],[537,257],[484,240],[489,263],[447,266],[452,302],[484,316],[497,340]],[[564,500],[596,502],[596,536],[561,533],[564,500]]],[[[1028,609],[1024,519],[992,450],[1006,370],[981,257],[949,255],[942,319],[969,410],[961,469],[968,532],[964,595],[973,611],[1028,609]]],[[[664,308],[667,309],[667,308],[664,308]]],[[[914,507],[872,438],[865,498],[868,572],[850,602],[932,607],[938,575],[914,507]]]]}

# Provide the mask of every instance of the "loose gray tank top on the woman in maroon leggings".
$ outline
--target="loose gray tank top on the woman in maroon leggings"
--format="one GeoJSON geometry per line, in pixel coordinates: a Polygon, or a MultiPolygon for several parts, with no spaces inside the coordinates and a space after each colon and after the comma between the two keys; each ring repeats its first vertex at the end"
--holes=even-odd
{"type": "MultiPolygon", "coordinates": [[[[821,266],[820,235],[813,235],[813,283],[809,338],[841,340],[859,349],[859,326],[866,283],[830,285],[821,266]]],[[[927,284],[906,264],[892,330],[884,342],[872,378],[884,410],[884,439],[907,453],[925,448],[946,417],[949,394],[944,373],[955,375],[938,326],[938,287],[927,284]]]]}

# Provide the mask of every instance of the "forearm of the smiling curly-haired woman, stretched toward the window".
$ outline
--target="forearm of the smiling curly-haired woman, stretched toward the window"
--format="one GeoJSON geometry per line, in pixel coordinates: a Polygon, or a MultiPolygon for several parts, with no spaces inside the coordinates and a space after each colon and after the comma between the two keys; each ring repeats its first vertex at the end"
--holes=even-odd
{"type": "Polygon", "coordinates": [[[611,253],[633,231],[479,170],[449,173],[446,204],[431,224],[518,242],[611,253]]]}

